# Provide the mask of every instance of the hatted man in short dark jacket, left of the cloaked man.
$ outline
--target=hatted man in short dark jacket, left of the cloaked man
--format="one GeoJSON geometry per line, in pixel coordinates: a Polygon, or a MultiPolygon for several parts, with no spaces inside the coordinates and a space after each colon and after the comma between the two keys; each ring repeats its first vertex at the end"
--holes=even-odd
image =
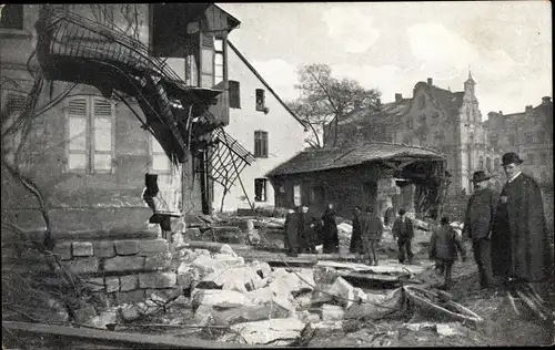
{"type": "Polygon", "coordinates": [[[478,267],[480,287],[493,286],[490,231],[495,215],[497,194],[487,187],[488,176],[475,172],[472,176],[474,194],[468,199],[464,218],[463,237],[472,239],[474,260],[478,267]]]}

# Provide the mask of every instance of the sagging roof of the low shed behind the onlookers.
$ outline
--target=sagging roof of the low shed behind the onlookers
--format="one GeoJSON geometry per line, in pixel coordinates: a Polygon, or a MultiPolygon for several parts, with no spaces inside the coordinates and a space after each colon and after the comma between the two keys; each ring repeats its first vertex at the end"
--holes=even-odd
{"type": "Polygon", "coordinates": [[[335,148],[303,151],[276,166],[266,176],[320,172],[400,157],[444,159],[441,153],[425,147],[386,142],[363,142],[335,148]]]}

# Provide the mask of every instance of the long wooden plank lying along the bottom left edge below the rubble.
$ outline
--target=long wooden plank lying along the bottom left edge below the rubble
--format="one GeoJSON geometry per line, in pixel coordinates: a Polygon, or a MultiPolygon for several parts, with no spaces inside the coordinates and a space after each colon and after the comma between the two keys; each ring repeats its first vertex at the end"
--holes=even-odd
{"type": "Polygon", "coordinates": [[[260,348],[261,346],[224,343],[219,341],[176,338],[144,333],[115,332],[91,328],[72,328],[58,325],[2,321],[12,331],[57,336],[58,339],[83,339],[110,346],[128,346],[133,349],[195,349],[195,348],[260,348]]]}

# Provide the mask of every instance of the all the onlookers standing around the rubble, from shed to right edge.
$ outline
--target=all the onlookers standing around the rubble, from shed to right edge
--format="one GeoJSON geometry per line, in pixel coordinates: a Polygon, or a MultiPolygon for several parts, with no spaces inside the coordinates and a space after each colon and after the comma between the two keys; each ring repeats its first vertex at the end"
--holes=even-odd
{"type": "MultiPolygon", "coordinates": [[[[515,153],[503,155],[502,166],[507,182],[501,194],[487,186],[490,177],[483,171],[473,174],[475,191],[468,199],[462,238],[472,240],[480,285],[484,289],[497,286],[496,278],[505,287],[553,278],[553,245],[549,239],[553,231],[547,229],[539,186],[533,177],[522,173],[522,163],[515,153]]],[[[432,228],[430,258],[435,259],[437,270],[445,274],[443,286],[448,289],[457,253],[465,260],[466,250],[447,217],[442,217],[438,224],[436,218],[427,219],[432,228]]],[[[309,216],[307,207],[300,206],[287,215],[285,231],[290,255],[315,253],[315,246],[322,243],[324,253],[339,251],[333,205],[327,206],[321,218],[309,216]]],[[[382,220],[372,206],[366,207],[364,213],[356,207],[351,253],[361,254],[369,265],[377,265],[376,248],[383,231],[382,220]]],[[[414,227],[403,208],[393,223],[392,234],[398,245],[398,261],[412,264],[414,227]]]]}

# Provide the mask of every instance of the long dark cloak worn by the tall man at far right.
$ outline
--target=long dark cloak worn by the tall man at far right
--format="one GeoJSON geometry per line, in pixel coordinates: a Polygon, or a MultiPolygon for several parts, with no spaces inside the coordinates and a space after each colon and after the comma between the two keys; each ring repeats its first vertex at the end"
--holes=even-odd
{"type": "Polygon", "coordinates": [[[552,276],[552,248],[542,193],[521,174],[503,188],[492,230],[495,276],[538,281],[552,276]]]}

